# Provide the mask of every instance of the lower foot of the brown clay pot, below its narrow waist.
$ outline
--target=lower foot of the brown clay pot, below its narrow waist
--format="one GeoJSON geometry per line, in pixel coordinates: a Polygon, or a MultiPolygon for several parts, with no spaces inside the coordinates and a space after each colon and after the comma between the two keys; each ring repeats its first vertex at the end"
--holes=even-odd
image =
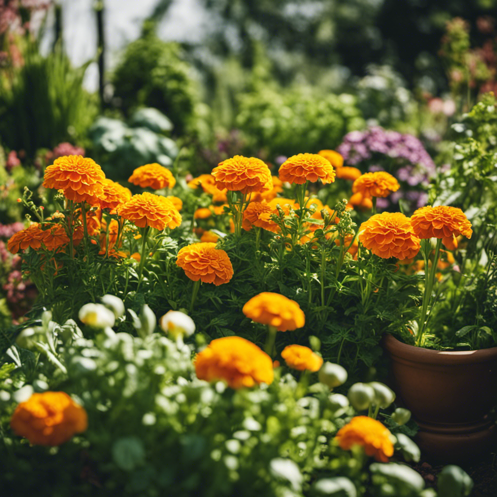
{"type": "Polygon", "coordinates": [[[490,452],[496,444],[497,429],[491,420],[466,426],[436,426],[417,421],[414,441],[423,456],[432,462],[459,464],[490,452]]]}

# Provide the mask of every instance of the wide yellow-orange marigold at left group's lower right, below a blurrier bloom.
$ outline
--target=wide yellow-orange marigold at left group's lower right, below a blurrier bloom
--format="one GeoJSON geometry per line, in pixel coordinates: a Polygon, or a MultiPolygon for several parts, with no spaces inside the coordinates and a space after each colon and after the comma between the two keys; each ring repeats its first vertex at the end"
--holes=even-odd
{"type": "Polygon", "coordinates": [[[181,224],[181,214],[166,197],[144,192],[133,195],[131,200],[117,209],[118,214],[139,228],[150,226],[162,231],[166,226],[176,228],[181,224]]]}

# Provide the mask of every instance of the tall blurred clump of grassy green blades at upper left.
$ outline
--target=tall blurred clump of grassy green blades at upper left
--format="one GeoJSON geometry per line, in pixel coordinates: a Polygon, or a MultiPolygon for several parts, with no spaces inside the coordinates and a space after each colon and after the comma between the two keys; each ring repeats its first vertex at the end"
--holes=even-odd
{"type": "Polygon", "coordinates": [[[40,148],[84,140],[96,113],[95,96],[82,86],[87,66],[73,68],[62,46],[46,57],[35,41],[19,41],[24,64],[0,71],[0,137],[33,158],[40,148]]]}

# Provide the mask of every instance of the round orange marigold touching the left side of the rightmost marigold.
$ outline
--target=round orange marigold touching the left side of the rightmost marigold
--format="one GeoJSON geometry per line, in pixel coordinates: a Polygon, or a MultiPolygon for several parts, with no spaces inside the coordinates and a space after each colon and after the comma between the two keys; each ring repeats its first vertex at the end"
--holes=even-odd
{"type": "Polygon", "coordinates": [[[411,258],[421,248],[411,220],[400,212],[375,214],[361,224],[359,232],[359,242],[384,259],[411,258]]]}

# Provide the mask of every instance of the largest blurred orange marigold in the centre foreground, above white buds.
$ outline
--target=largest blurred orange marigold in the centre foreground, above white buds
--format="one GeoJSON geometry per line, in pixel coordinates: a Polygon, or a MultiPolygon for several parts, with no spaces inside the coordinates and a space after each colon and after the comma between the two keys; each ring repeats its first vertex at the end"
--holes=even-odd
{"type": "Polygon", "coordinates": [[[240,336],[212,340],[195,357],[195,372],[201,380],[225,380],[231,388],[269,385],[274,378],[271,358],[240,336]]]}

